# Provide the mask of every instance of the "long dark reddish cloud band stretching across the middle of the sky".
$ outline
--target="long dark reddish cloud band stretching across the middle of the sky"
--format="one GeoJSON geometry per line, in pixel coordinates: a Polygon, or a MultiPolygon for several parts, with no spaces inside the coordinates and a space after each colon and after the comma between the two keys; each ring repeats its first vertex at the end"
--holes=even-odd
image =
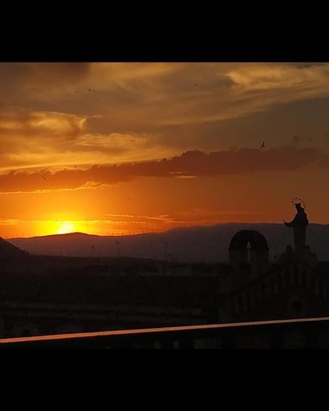
{"type": "Polygon", "coordinates": [[[256,172],[290,172],[308,166],[327,168],[329,154],[312,148],[281,147],[268,151],[255,149],[205,153],[185,152],[179,157],[91,168],[62,169],[57,172],[10,172],[0,176],[0,192],[35,192],[95,188],[140,177],[208,177],[256,172]]]}

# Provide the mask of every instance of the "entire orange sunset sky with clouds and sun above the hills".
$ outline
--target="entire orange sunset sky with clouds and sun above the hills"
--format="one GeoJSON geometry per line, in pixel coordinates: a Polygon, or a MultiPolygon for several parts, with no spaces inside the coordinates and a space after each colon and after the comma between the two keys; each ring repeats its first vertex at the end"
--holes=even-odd
{"type": "Polygon", "coordinates": [[[0,89],[2,237],[282,222],[294,196],[329,223],[328,63],[0,63],[0,89]]]}

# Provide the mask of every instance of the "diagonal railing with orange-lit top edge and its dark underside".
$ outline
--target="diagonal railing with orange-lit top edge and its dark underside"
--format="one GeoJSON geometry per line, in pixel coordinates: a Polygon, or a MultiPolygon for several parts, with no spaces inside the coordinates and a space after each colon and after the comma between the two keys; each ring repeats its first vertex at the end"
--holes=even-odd
{"type": "Polygon", "coordinates": [[[329,317],[2,338],[0,348],[329,348],[329,317]],[[289,335],[300,347],[286,347],[289,335]]]}

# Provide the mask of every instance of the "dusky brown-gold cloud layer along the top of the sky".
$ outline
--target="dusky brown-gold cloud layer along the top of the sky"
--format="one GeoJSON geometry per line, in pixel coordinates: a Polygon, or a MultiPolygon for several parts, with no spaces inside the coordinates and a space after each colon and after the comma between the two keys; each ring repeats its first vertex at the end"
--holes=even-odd
{"type": "Polygon", "coordinates": [[[23,106],[42,101],[76,114],[79,107],[80,113],[102,120],[103,127],[107,124],[103,133],[222,121],[329,96],[329,64],[32,63],[0,68],[3,82],[11,76],[8,95],[4,88],[10,104],[20,95],[23,106]]]}

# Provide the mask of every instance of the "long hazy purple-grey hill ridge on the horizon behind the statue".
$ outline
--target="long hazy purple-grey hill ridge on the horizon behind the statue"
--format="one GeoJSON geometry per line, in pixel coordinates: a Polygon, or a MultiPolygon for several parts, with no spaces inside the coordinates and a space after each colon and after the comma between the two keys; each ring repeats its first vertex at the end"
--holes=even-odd
{"type": "MultiPolygon", "coordinates": [[[[67,256],[117,256],[138,258],[166,258],[175,262],[227,261],[228,247],[233,235],[242,229],[258,230],[265,235],[270,258],[293,246],[292,230],[283,224],[227,223],[214,226],[174,228],[161,233],[124,236],[98,236],[84,233],[56,234],[30,238],[11,238],[8,241],[33,254],[67,256]]],[[[310,224],[307,227],[307,244],[319,260],[329,260],[329,225],[310,224]]]]}

